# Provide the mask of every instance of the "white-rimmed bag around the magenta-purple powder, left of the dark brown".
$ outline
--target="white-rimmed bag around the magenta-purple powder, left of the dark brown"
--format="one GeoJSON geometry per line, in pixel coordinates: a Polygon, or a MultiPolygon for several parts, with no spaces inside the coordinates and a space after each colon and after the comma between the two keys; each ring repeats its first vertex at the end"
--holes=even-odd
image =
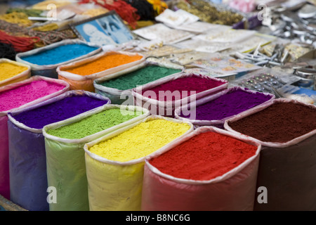
{"type": "MultiPolygon", "coordinates": [[[[195,125],[195,128],[202,127],[202,126],[213,126],[213,127],[218,127],[218,128],[223,129],[225,120],[229,120],[230,118],[239,114],[239,113],[237,113],[237,114],[231,115],[230,108],[226,108],[226,107],[230,106],[229,104],[230,104],[230,101],[232,101],[231,99],[236,98],[237,95],[233,96],[232,98],[223,99],[223,101],[218,101],[218,109],[216,109],[216,108],[213,109],[214,111],[223,109],[223,111],[220,111],[220,113],[223,113],[223,116],[221,116],[220,119],[218,119],[218,120],[197,120],[197,108],[199,108],[199,106],[201,106],[201,105],[211,103],[212,101],[215,101],[216,99],[218,100],[218,99],[220,99],[220,97],[225,96],[226,94],[232,94],[235,91],[244,91],[246,93],[249,93],[249,96],[248,96],[249,98],[251,98],[251,94],[254,95],[254,98],[256,95],[267,96],[267,98],[270,97],[270,99],[267,99],[265,101],[263,99],[262,99],[262,101],[251,101],[251,100],[249,100],[249,98],[235,99],[235,101],[238,102],[237,106],[239,108],[239,110],[237,110],[236,112],[239,112],[239,113],[245,112],[246,110],[250,110],[251,108],[256,108],[260,105],[263,105],[263,104],[268,103],[269,101],[272,101],[273,99],[275,99],[275,96],[272,94],[269,94],[269,93],[261,93],[258,91],[252,91],[249,89],[245,89],[241,86],[234,86],[234,87],[231,87],[231,88],[226,89],[224,91],[220,91],[217,94],[213,94],[211,96],[206,96],[204,98],[200,98],[197,101],[195,101],[194,103],[190,103],[187,105],[183,105],[182,107],[176,108],[175,117],[178,120],[186,120],[186,121],[191,122],[192,124],[195,125]],[[189,117],[184,117],[183,115],[187,115],[189,117]],[[224,116],[224,115],[229,115],[229,116],[224,116]]],[[[234,107],[234,105],[232,105],[230,107],[234,107]]],[[[208,109],[212,110],[211,106],[208,109]]],[[[234,109],[234,110],[236,110],[236,109],[234,109]]]]}

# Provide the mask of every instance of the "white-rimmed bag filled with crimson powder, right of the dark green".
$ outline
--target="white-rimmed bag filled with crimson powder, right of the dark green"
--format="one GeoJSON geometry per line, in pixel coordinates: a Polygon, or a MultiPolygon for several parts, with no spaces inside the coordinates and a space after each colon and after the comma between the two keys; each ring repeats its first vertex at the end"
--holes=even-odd
{"type": "Polygon", "coordinates": [[[225,79],[182,73],[138,86],[131,94],[135,105],[147,108],[152,115],[174,117],[174,111],[181,105],[190,104],[227,88],[228,81],[225,79]]]}

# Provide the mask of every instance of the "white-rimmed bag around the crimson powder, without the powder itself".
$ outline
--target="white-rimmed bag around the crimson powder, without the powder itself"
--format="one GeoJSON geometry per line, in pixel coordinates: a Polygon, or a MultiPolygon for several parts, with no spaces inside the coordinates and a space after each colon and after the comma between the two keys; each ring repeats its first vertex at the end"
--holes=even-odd
{"type": "Polygon", "coordinates": [[[159,81],[150,82],[148,84],[138,86],[132,90],[131,94],[134,97],[134,102],[135,102],[134,104],[140,105],[143,108],[147,108],[148,110],[150,110],[150,113],[152,115],[174,117],[175,116],[174,110],[176,110],[176,108],[180,107],[181,105],[189,104],[191,102],[196,101],[199,98],[202,98],[204,96],[208,96],[211,94],[216,94],[217,92],[223,91],[223,89],[227,89],[227,88],[228,88],[228,81],[225,79],[218,79],[218,78],[213,78],[206,75],[198,75],[195,73],[183,73],[180,75],[172,75],[169,77],[165,77],[165,78],[159,79],[159,81]],[[160,92],[159,92],[158,98],[157,96],[155,96],[155,94],[152,94],[152,91],[150,91],[150,89],[156,86],[159,86],[161,84],[166,84],[168,82],[172,82],[173,80],[181,79],[185,77],[199,77],[202,79],[207,79],[210,82],[218,82],[221,84],[212,89],[208,89],[196,94],[190,94],[190,91],[186,91],[187,93],[185,94],[187,94],[187,96],[183,98],[179,97],[178,99],[176,95],[173,95],[174,93],[171,93],[171,91],[168,91],[168,90],[164,91],[163,96],[160,96],[160,92]],[[147,94],[146,95],[143,94],[143,91],[145,91],[144,93],[147,93],[148,91],[148,96],[154,95],[156,98],[149,98],[147,94]],[[157,100],[157,99],[162,99],[162,97],[165,97],[167,101],[157,100]]]}

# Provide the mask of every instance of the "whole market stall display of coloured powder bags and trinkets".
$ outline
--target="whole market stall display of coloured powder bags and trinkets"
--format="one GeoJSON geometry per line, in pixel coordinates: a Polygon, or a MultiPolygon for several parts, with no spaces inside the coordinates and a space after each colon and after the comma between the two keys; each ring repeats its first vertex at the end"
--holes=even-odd
{"type": "MultiPolygon", "coordinates": [[[[1,1],[0,210],[315,210],[315,7],[311,0],[1,1]],[[56,104],[68,94],[73,101],[62,113],[56,104]],[[107,103],[94,105],[94,97],[107,103]],[[190,139],[181,142],[183,134],[190,139]],[[152,148],[155,136],[167,141],[152,148]],[[215,154],[207,168],[221,174],[180,176],[172,158],[185,148],[177,145],[202,136],[197,152],[233,140],[254,154],[232,167],[215,154]],[[215,136],[217,144],[207,143],[215,136]],[[21,169],[37,162],[41,169],[21,169]],[[267,186],[268,204],[254,197],[258,185],[267,186]],[[244,200],[224,196],[234,193],[244,200]]],[[[191,164],[190,149],[182,155],[190,158],[183,158],[187,175],[203,164],[191,164]]]]}

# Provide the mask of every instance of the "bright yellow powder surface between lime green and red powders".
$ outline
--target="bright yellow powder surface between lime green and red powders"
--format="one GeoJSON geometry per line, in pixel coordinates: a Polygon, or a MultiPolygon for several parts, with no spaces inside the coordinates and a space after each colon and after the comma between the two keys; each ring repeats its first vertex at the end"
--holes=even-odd
{"type": "Polygon", "coordinates": [[[88,150],[108,160],[127,162],[153,153],[189,129],[190,125],[186,123],[149,120],[112,139],[101,141],[88,150]]]}

